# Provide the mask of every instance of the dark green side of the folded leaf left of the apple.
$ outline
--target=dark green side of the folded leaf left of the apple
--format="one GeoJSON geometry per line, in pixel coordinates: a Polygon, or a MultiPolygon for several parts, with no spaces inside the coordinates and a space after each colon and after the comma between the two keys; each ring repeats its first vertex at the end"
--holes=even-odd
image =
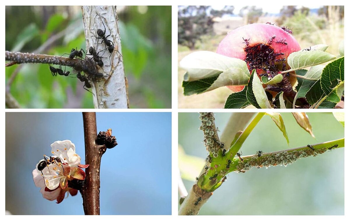
{"type": "Polygon", "coordinates": [[[200,94],[205,92],[218,78],[212,77],[212,78],[206,78],[198,81],[183,81],[182,87],[183,87],[183,94],[184,95],[192,95],[192,94],[200,94]]]}

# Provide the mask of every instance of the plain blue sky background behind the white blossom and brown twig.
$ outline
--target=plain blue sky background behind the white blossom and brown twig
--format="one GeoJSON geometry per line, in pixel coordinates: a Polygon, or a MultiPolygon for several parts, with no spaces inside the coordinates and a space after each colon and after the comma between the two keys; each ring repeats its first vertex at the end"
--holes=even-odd
{"type": "MultiPolygon", "coordinates": [[[[118,145],[101,163],[101,214],[171,214],[171,113],[97,113],[97,130],[118,145]]],[[[42,197],[32,171],[56,140],[69,139],[85,163],[82,113],[6,113],[6,210],[84,214],[80,193],[62,203],[42,197]]]]}

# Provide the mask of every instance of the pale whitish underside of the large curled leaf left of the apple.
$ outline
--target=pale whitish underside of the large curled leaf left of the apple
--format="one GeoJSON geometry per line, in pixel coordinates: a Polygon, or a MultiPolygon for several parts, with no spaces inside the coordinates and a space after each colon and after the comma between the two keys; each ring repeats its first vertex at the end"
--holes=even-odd
{"type": "Polygon", "coordinates": [[[187,72],[184,81],[197,81],[225,73],[225,85],[247,85],[250,73],[245,61],[209,51],[189,54],[180,61],[187,72]]]}

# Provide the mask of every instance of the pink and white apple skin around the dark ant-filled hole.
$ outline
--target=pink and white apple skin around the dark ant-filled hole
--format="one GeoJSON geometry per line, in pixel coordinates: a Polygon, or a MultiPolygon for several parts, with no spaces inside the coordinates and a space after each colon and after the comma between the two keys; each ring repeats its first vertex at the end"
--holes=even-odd
{"type": "MultiPolygon", "coordinates": [[[[257,44],[265,44],[271,46],[275,53],[284,53],[284,55],[276,56],[276,59],[285,58],[284,61],[287,64],[287,58],[290,53],[300,51],[300,45],[296,39],[287,31],[282,28],[271,25],[271,24],[248,24],[243,27],[239,27],[235,30],[228,32],[227,36],[220,42],[216,53],[222,54],[224,56],[238,58],[245,60],[246,52],[245,48],[247,46],[253,47],[257,44]],[[272,41],[272,44],[269,45],[268,42],[271,42],[271,37],[275,36],[272,41]],[[249,40],[248,40],[249,39],[249,40]],[[248,40],[248,45],[246,45],[245,40],[248,40]],[[287,45],[284,43],[276,43],[277,41],[283,40],[287,42],[287,45]]],[[[249,66],[248,66],[249,68],[249,66]]],[[[265,73],[262,69],[257,69],[257,74],[265,73]]],[[[295,84],[296,78],[290,77],[290,83],[295,84]]],[[[244,86],[227,86],[233,92],[239,92],[243,90],[244,86]]]]}

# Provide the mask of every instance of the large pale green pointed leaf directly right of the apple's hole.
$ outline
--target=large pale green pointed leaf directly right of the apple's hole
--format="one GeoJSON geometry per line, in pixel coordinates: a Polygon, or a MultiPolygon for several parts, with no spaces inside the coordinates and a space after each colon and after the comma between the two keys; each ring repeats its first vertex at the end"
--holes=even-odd
{"type": "Polygon", "coordinates": [[[293,52],[288,56],[288,65],[291,68],[288,71],[319,65],[335,58],[332,54],[319,50],[293,52]]]}

